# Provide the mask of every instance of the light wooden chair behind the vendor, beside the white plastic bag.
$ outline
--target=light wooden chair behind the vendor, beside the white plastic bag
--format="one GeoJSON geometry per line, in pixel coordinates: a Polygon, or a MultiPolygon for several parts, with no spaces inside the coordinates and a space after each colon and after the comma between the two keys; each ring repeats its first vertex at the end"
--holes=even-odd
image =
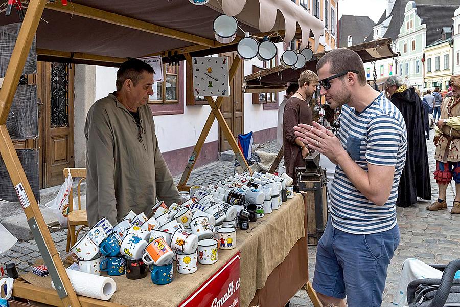
{"type": "Polygon", "coordinates": [[[69,212],[67,216],[67,252],[77,242],[80,230],[88,227],[86,210],[81,210],[81,183],[86,179],[86,168],[64,168],[64,178],[67,178],[68,172],[70,172],[72,178],[80,177],[81,179],[78,181],[77,185],[78,210],[74,210],[73,188],[71,188],[68,198],[69,212]],[[75,232],[77,226],[81,227],[77,230],[77,232],[75,232]]]}

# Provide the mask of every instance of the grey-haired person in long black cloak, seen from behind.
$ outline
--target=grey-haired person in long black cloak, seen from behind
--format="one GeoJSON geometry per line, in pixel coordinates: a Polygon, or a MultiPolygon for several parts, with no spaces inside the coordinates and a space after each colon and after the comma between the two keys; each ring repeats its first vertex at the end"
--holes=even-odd
{"type": "Polygon", "coordinates": [[[420,96],[408,87],[400,76],[390,76],[386,89],[392,95],[390,101],[401,112],[407,128],[407,155],[396,205],[409,207],[417,203],[417,196],[431,199],[428,152],[426,149],[425,122],[427,114],[420,96]]]}

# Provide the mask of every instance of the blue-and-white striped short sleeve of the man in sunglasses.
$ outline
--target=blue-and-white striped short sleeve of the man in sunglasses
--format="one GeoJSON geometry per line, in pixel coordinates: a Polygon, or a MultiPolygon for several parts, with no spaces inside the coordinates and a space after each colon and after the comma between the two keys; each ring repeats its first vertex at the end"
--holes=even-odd
{"type": "Polygon", "coordinates": [[[398,120],[387,114],[374,117],[367,128],[367,163],[396,166],[404,130],[398,120]]]}

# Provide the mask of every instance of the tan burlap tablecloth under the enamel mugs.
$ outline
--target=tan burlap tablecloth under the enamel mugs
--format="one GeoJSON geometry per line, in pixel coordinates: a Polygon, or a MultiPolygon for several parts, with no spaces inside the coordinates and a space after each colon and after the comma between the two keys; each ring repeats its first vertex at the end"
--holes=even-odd
{"type": "MultiPolygon", "coordinates": [[[[303,199],[300,194],[295,194],[280,209],[250,223],[249,230],[238,230],[235,249],[219,249],[217,264],[199,264],[198,271],[190,275],[179,274],[175,269],[173,282],[164,286],[153,284],[150,275],[139,280],[129,280],[125,276],[112,277],[117,283],[117,291],[109,301],[136,307],[176,307],[239,250],[240,303],[242,307],[247,307],[256,290],[264,287],[273,269],[283,262],[297,240],[306,235],[304,215],[303,199]]],[[[52,289],[50,276],[39,277],[27,273],[21,277],[35,286],[52,289]]]]}

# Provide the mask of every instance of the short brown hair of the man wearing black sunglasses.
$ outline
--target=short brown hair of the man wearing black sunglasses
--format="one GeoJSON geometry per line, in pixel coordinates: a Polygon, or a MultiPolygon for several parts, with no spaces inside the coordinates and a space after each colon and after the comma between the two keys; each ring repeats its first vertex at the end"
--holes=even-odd
{"type": "Polygon", "coordinates": [[[355,70],[358,72],[358,82],[361,86],[367,84],[364,72],[364,64],[359,55],[353,50],[347,48],[333,49],[319,59],[316,64],[316,71],[326,63],[331,65],[331,74],[340,74],[347,71],[355,70]]]}

